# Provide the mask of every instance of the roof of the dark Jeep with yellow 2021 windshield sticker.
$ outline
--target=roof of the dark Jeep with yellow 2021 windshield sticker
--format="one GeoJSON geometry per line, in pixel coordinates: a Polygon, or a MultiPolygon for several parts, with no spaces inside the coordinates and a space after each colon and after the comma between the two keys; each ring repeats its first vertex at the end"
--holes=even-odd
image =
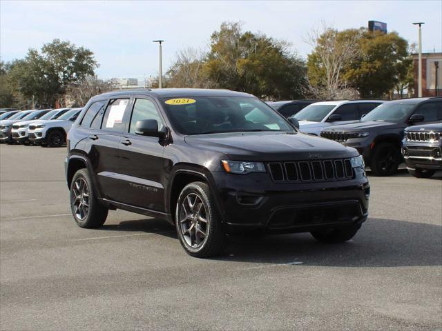
{"type": "Polygon", "coordinates": [[[203,88],[136,88],[128,90],[119,90],[99,94],[96,97],[106,97],[111,95],[124,94],[146,94],[155,95],[156,97],[254,97],[252,94],[244,92],[236,92],[231,90],[211,90],[203,88]]]}

